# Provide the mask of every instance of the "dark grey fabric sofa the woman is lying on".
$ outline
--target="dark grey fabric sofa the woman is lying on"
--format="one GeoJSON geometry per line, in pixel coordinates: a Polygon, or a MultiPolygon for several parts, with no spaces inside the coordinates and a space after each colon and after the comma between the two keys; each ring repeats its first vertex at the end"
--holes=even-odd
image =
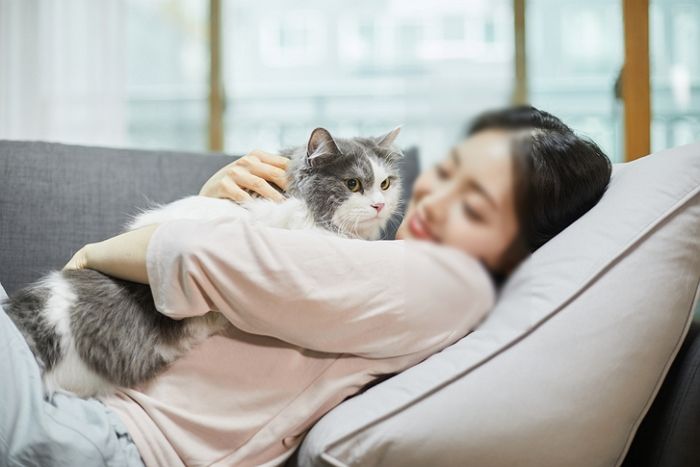
{"type": "MultiPolygon", "coordinates": [[[[11,295],[60,268],[84,244],[118,233],[137,208],[198,192],[232,160],[223,154],[0,141],[0,283],[11,295]]],[[[418,170],[417,151],[407,150],[404,199],[418,170]]],[[[700,323],[695,316],[618,464],[700,465],[700,323]]],[[[298,450],[306,454],[294,455],[288,465],[340,465],[309,454],[316,449],[315,436],[312,430],[298,450]]]]}

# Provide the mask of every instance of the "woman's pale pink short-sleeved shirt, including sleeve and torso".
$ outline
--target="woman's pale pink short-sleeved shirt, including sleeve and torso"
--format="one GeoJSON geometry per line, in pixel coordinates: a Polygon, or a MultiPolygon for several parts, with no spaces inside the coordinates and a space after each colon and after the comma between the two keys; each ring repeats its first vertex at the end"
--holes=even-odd
{"type": "Polygon", "coordinates": [[[147,267],[161,313],[235,326],[104,400],[148,466],[280,464],[324,413],[452,344],[494,302],[457,250],[240,220],[161,225],[147,267]]]}

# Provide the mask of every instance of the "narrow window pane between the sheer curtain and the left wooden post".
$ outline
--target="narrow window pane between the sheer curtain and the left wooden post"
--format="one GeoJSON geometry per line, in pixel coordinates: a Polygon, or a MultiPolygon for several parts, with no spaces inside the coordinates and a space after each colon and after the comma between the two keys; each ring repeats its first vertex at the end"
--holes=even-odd
{"type": "Polygon", "coordinates": [[[128,145],[206,149],[207,8],[199,0],[128,1],[128,145]]]}

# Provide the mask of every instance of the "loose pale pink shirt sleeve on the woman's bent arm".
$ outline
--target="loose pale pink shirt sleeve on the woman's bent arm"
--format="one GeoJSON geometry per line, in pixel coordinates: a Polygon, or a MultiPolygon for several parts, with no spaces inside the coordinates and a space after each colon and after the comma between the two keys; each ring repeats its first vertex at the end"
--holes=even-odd
{"type": "Polygon", "coordinates": [[[484,268],[457,250],[240,220],[162,224],[147,268],[156,307],[172,318],[218,311],[249,333],[370,358],[461,337],[494,301],[484,268]]]}

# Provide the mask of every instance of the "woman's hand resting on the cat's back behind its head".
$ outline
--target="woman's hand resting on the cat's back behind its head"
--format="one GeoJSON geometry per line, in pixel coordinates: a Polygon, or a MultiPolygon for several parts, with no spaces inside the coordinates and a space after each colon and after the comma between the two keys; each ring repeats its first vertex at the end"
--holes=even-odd
{"type": "Polygon", "coordinates": [[[288,164],[286,157],[252,151],[216,172],[199,194],[210,198],[227,198],[241,204],[252,199],[248,192],[252,191],[272,201],[284,201],[284,195],[269,182],[286,191],[288,164]]]}

